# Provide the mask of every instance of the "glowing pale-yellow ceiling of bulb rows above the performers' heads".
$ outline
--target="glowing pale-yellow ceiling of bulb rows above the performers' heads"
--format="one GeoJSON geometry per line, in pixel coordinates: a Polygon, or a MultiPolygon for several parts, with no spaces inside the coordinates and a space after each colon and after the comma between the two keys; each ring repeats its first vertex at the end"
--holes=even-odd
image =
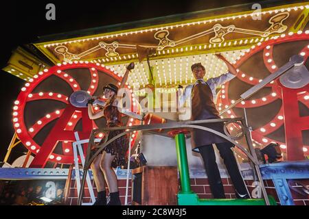
{"type": "MultiPolygon", "coordinates": [[[[236,63],[240,59],[240,55],[244,55],[246,50],[227,51],[222,54],[231,63],[236,63]]],[[[160,86],[168,86],[174,83],[187,84],[192,83],[194,75],[191,71],[191,65],[196,62],[202,62],[207,68],[205,78],[218,77],[227,72],[227,66],[224,62],[218,60],[213,54],[189,55],[187,57],[174,57],[162,60],[152,61],[154,68],[154,77],[158,79],[160,86]]],[[[145,69],[146,62],[135,64],[135,69],[128,77],[128,83],[136,88],[145,86],[148,83],[148,66],[145,69]],[[144,64],[145,63],[145,64],[144,64]]],[[[112,70],[123,70],[125,64],[110,66],[112,70]]],[[[122,73],[123,74],[123,73],[122,73]]]]}

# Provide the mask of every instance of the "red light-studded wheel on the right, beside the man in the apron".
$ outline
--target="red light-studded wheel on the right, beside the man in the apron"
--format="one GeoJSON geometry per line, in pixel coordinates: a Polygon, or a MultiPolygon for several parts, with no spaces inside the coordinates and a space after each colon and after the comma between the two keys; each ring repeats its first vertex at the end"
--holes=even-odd
{"type": "MultiPolygon", "coordinates": [[[[290,33],[275,36],[265,42],[259,42],[257,45],[247,50],[235,66],[239,72],[235,79],[228,81],[222,86],[218,94],[217,107],[221,111],[228,105],[231,105],[240,98],[242,92],[258,84],[264,77],[275,71],[288,62],[292,55],[300,54],[304,56],[304,64],[308,68],[309,62],[309,31],[305,33],[299,31],[297,34],[290,33]]],[[[299,112],[293,112],[301,118],[304,116],[308,120],[309,115],[309,85],[303,88],[304,92],[297,94],[299,112]]],[[[265,88],[251,96],[249,99],[238,103],[236,107],[229,110],[223,117],[244,116],[243,108],[247,109],[249,125],[253,127],[252,138],[255,142],[267,145],[271,142],[280,144],[282,151],[286,153],[287,144],[285,140],[284,104],[282,103],[282,84],[279,78],[271,81],[265,88]]],[[[287,111],[287,110],[286,110],[287,111]]],[[[308,125],[307,125],[308,126],[308,125]]],[[[304,125],[306,127],[306,125],[304,125]]],[[[229,127],[232,131],[237,127],[229,127]]],[[[292,127],[293,128],[293,127],[292,127]]],[[[297,127],[295,127],[297,129],[297,127]]],[[[302,129],[303,151],[304,155],[309,155],[309,127],[302,129]]]]}

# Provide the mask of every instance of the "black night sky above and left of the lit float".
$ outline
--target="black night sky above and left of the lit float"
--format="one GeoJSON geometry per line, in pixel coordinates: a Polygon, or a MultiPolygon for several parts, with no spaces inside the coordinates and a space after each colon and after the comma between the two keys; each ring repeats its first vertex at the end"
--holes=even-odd
{"type": "MultiPolygon", "coordinates": [[[[12,50],[21,44],[36,42],[38,36],[256,2],[258,1],[1,1],[0,68],[7,64],[12,50]],[[56,21],[45,19],[47,3],[56,5],[56,21]]],[[[14,134],[11,122],[13,102],[25,81],[2,70],[0,74],[2,161],[14,134]]]]}

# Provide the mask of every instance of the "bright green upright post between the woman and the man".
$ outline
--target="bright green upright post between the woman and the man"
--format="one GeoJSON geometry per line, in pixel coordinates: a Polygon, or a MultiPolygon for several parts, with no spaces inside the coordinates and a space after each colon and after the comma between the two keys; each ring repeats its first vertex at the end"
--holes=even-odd
{"type": "Polygon", "coordinates": [[[177,164],[181,179],[181,193],[191,194],[189,167],[187,165],[187,149],[185,146],[185,134],[178,133],[175,136],[177,164]]]}

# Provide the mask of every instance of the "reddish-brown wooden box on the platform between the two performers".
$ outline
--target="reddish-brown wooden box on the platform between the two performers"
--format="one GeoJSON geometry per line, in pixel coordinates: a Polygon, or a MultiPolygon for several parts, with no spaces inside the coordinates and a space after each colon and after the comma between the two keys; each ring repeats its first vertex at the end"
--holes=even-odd
{"type": "Polygon", "coordinates": [[[133,205],[177,205],[175,166],[142,166],[132,171],[133,205]]]}

